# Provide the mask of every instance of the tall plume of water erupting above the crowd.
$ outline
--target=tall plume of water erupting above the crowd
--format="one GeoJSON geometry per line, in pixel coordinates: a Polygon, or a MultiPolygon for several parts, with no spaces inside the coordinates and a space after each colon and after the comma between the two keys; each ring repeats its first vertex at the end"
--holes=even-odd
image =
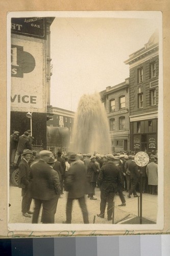
{"type": "Polygon", "coordinates": [[[99,93],[84,94],[80,98],[71,150],[82,154],[111,152],[109,124],[99,93]]]}

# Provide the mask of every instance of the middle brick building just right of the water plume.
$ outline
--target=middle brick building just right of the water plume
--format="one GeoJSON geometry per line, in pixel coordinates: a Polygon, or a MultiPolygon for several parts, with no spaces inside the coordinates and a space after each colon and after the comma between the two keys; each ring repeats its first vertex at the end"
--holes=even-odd
{"type": "Polygon", "coordinates": [[[129,78],[100,92],[110,125],[112,152],[129,151],[129,78]]]}

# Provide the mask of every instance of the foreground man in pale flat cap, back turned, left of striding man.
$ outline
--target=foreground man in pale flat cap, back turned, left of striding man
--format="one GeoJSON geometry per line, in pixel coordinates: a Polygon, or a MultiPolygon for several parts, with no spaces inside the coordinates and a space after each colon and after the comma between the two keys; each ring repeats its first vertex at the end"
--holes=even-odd
{"type": "Polygon", "coordinates": [[[60,195],[60,182],[56,170],[47,162],[53,156],[50,151],[40,151],[40,160],[31,166],[31,193],[35,201],[32,223],[38,223],[42,204],[43,223],[54,223],[57,202],[60,195]]]}

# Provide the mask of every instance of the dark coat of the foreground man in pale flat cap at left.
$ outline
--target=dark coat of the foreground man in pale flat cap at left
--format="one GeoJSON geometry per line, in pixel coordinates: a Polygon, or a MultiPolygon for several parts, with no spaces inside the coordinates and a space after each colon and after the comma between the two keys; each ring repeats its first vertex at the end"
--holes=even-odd
{"type": "Polygon", "coordinates": [[[58,173],[42,160],[31,166],[32,198],[51,200],[60,194],[58,173]]]}

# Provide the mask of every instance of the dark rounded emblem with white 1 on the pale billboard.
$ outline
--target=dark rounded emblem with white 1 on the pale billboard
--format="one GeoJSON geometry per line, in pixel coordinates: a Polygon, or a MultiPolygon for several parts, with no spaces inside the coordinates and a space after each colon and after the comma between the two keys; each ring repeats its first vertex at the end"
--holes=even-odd
{"type": "Polygon", "coordinates": [[[23,51],[22,46],[11,45],[11,76],[23,77],[23,73],[30,73],[34,68],[34,57],[23,51]]]}

